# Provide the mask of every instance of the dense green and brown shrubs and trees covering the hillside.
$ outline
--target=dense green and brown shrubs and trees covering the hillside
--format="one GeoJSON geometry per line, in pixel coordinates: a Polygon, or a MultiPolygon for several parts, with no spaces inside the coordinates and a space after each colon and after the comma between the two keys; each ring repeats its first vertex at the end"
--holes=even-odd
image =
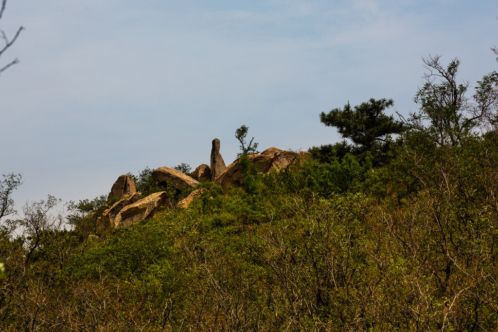
{"type": "MultiPolygon", "coordinates": [[[[419,113],[395,121],[371,100],[323,114],[353,144],[268,175],[242,154],[228,194],[204,183],[188,208],[102,237],[106,197],[65,218],[53,197],[26,206],[1,226],[0,330],[497,330],[496,73],[468,98],[458,60],[424,62],[419,113]]],[[[159,190],[149,173],[138,186],[159,190]]]]}

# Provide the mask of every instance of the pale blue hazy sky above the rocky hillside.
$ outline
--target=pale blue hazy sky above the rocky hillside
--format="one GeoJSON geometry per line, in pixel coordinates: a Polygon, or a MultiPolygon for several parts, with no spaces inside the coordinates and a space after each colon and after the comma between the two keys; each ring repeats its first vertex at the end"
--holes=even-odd
{"type": "Polygon", "coordinates": [[[458,57],[473,89],[498,67],[497,16],[496,0],[8,0],[0,28],[25,30],[0,58],[20,60],[0,75],[0,173],[22,173],[20,209],[209,165],[214,138],[228,165],[242,125],[259,151],[339,142],[321,112],[418,110],[422,57],[458,57]]]}

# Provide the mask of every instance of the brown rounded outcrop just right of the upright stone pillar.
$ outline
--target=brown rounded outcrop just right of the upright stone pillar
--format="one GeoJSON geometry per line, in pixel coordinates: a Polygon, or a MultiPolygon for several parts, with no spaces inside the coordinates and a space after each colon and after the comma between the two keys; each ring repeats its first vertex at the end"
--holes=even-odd
{"type": "MultiPolygon", "coordinates": [[[[299,154],[292,151],[283,151],[277,148],[269,148],[260,155],[249,155],[249,161],[255,165],[260,172],[267,174],[278,171],[291,164],[301,165],[302,160],[308,158],[309,153],[301,151],[299,154]]],[[[227,192],[229,187],[240,187],[242,182],[240,161],[227,166],[227,168],[215,179],[214,184],[221,185],[223,191],[227,192]]]]}

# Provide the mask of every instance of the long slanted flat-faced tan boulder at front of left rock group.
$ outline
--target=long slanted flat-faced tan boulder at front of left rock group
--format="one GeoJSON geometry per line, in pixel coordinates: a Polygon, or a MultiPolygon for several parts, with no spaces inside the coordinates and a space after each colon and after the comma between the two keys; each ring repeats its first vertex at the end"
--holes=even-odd
{"type": "Polygon", "coordinates": [[[168,193],[161,191],[127,205],[114,218],[114,227],[128,227],[140,220],[151,218],[167,201],[168,193]]]}

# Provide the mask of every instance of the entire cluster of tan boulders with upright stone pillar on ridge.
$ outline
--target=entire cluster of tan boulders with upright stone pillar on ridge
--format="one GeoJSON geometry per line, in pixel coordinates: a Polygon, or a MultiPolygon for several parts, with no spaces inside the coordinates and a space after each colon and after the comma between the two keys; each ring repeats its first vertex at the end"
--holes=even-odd
{"type": "MultiPolygon", "coordinates": [[[[299,154],[292,151],[283,151],[277,148],[269,148],[260,155],[249,155],[249,162],[257,169],[267,174],[289,165],[301,165],[302,161],[309,157],[309,153],[301,151],[299,154]]],[[[213,179],[214,184],[219,184],[225,192],[229,187],[240,187],[242,182],[241,166],[239,160],[225,165],[220,154],[220,140],[213,140],[211,150],[211,167],[205,164],[197,167],[192,172],[192,177],[181,171],[159,167],[152,171],[152,178],[159,184],[169,184],[175,189],[193,188],[199,181],[213,179]]],[[[178,207],[188,207],[190,203],[199,197],[207,189],[194,190],[188,197],[178,202],[178,207]]],[[[115,227],[128,227],[140,220],[152,217],[157,210],[168,204],[168,193],[166,191],[156,192],[145,198],[139,199],[140,194],[136,192],[135,182],[129,175],[121,175],[114,183],[109,199],[118,197],[120,200],[113,204],[102,217],[97,219],[97,233],[109,232],[115,227]]]]}

